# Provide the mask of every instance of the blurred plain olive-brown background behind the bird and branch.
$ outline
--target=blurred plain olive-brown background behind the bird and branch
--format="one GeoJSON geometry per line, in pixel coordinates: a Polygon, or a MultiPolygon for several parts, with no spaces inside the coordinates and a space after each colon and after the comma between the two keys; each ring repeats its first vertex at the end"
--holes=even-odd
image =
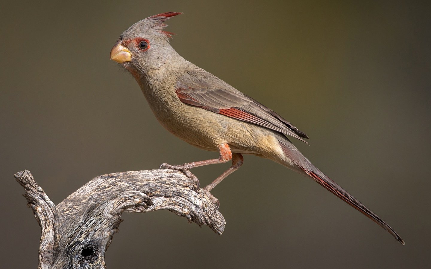
{"type": "MultiPolygon", "coordinates": [[[[30,170],[58,204],[94,176],[217,157],[164,130],[109,61],[126,28],[175,11],[184,14],[167,31],[178,53],[307,133],[310,146],[292,141],[406,245],[312,180],[245,156],[212,191],[223,235],[168,211],[124,214],[108,268],[430,268],[430,10],[411,1],[2,3],[2,267],[37,264],[40,227],[14,173],[30,170]]],[[[193,172],[206,185],[229,165],[193,172]]]]}

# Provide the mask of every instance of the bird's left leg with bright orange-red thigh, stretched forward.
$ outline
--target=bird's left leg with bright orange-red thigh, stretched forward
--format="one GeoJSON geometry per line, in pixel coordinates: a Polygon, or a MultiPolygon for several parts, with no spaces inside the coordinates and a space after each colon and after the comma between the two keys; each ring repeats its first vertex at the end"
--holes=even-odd
{"type": "Polygon", "coordinates": [[[190,172],[190,169],[194,168],[194,167],[200,167],[200,166],[208,165],[208,164],[223,164],[223,163],[232,159],[231,148],[229,147],[228,144],[219,145],[219,152],[220,152],[220,157],[217,159],[211,159],[211,160],[205,160],[205,161],[194,161],[191,163],[185,163],[185,164],[180,164],[180,165],[172,165],[172,164],[163,163],[162,165],[160,165],[159,169],[162,169],[162,167],[165,167],[168,169],[174,169],[174,170],[182,171],[189,179],[193,180],[196,183],[196,185],[197,185],[196,190],[197,190],[197,189],[199,189],[199,186],[200,186],[199,179],[197,179],[197,176],[195,176],[194,174],[192,174],[190,172]]]}

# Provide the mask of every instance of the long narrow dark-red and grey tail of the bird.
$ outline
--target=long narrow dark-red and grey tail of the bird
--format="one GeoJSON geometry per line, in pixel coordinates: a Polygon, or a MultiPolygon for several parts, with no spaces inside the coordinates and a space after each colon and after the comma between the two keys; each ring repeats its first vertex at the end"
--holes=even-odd
{"type": "Polygon", "coordinates": [[[332,179],[322,173],[317,167],[312,165],[311,162],[308,161],[289,140],[278,139],[278,141],[280,142],[284,154],[289,160],[284,163],[284,166],[310,176],[312,179],[315,180],[315,182],[319,183],[325,189],[332,192],[334,195],[337,195],[347,204],[350,204],[359,212],[361,212],[362,214],[373,220],[375,223],[380,225],[383,229],[393,235],[401,244],[405,244],[403,239],[400,238],[400,236],[397,234],[397,232],[394,231],[394,229],[387,225],[381,218],[379,218],[375,213],[365,207],[365,205],[359,202],[356,198],[350,195],[350,193],[338,186],[337,183],[332,181],[332,179]],[[290,161],[294,164],[294,167],[292,167],[290,161]]]}

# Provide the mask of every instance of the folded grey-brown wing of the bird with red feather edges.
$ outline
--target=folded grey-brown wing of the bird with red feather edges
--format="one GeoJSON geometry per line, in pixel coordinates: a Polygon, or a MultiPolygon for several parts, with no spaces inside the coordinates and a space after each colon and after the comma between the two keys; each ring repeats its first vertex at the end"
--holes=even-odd
{"type": "MultiPolygon", "coordinates": [[[[196,70],[179,78],[176,93],[181,102],[247,121],[306,142],[308,136],[279,114],[241,93],[218,77],[196,70]]],[[[307,143],[307,142],[306,142],[307,143]]]]}

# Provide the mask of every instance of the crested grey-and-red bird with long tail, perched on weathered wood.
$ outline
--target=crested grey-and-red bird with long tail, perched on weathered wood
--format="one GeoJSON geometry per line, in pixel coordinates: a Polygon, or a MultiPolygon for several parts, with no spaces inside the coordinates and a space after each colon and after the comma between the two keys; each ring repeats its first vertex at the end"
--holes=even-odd
{"type": "Polygon", "coordinates": [[[306,142],[309,137],[305,133],[175,51],[169,43],[174,34],[164,30],[164,22],[179,14],[161,13],[131,25],[109,56],[135,78],[163,127],[197,148],[219,152],[219,158],[180,165],[164,163],[160,168],[183,171],[199,189],[199,180],[190,169],[231,161],[228,170],[203,188],[218,208],[219,201],[210,191],[240,168],[242,155],[266,158],[313,179],[404,244],[394,229],[322,173],[290,141],[295,138],[306,142]]]}

